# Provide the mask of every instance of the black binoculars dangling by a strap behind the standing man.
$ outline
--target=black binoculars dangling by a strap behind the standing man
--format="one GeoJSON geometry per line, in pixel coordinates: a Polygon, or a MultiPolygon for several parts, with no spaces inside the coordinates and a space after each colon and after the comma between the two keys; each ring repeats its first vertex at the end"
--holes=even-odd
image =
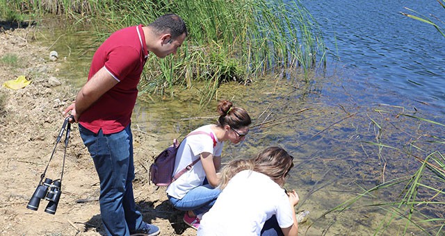
{"type": "MultiPolygon", "coordinates": [[[[41,182],[41,181],[40,181],[41,182]]],[[[45,199],[48,202],[47,208],[44,212],[49,214],[56,214],[56,209],[58,205],[58,200],[60,199],[60,191],[62,183],[60,180],[51,180],[50,178],[45,178],[43,183],[39,183],[31,199],[29,200],[26,208],[31,210],[38,210],[40,200],[45,199]]]]}

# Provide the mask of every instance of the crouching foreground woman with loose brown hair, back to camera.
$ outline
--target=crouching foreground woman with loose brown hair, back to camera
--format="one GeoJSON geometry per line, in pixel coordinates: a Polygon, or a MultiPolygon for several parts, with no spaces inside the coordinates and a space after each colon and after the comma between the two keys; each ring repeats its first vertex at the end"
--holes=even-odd
{"type": "Polygon", "coordinates": [[[298,235],[298,194],[282,188],[292,167],[293,157],[277,146],[229,162],[221,172],[222,192],[197,235],[298,235]]]}

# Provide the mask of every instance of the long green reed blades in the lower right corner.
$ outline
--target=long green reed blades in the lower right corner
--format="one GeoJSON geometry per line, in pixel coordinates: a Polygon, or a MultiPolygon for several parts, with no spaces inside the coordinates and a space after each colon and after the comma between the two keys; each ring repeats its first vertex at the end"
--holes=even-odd
{"type": "MultiPolygon", "coordinates": [[[[385,110],[376,110],[376,112],[386,112],[385,110]]],[[[364,192],[357,194],[353,199],[345,201],[336,208],[325,212],[327,214],[340,214],[343,211],[352,208],[365,208],[370,212],[374,210],[383,210],[385,218],[381,219],[378,227],[374,228],[375,235],[386,235],[388,229],[394,229],[393,224],[404,223],[399,228],[400,235],[410,234],[410,230],[416,228],[421,235],[443,235],[445,233],[445,157],[437,147],[445,144],[443,137],[437,137],[429,133],[423,133],[422,126],[432,126],[440,128],[445,124],[407,115],[403,112],[396,115],[396,118],[407,117],[413,119],[414,124],[419,128],[414,137],[401,144],[401,146],[390,146],[382,142],[382,133],[385,133],[384,124],[371,119],[371,127],[375,130],[376,142],[362,142],[364,145],[370,145],[377,148],[375,151],[379,161],[382,162],[382,183],[364,189],[364,192]],[[391,180],[385,180],[385,168],[390,166],[389,158],[382,158],[382,150],[385,150],[385,156],[395,158],[396,156],[405,157],[407,168],[404,172],[396,174],[391,180]],[[412,162],[414,160],[414,162],[412,162]],[[394,192],[400,191],[399,194],[394,192]],[[390,193],[390,194],[389,194],[390,193]],[[394,196],[390,196],[394,195],[394,196]],[[371,200],[373,203],[366,203],[371,200]]],[[[411,120],[412,121],[412,120],[411,120]]],[[[389,124],[394,126],[394,124],[389,124]]],[[[396,127],[404,129],[403,127],[396,127]]],[[[428,128],[434,130],[434,128],[428,128]]]]}

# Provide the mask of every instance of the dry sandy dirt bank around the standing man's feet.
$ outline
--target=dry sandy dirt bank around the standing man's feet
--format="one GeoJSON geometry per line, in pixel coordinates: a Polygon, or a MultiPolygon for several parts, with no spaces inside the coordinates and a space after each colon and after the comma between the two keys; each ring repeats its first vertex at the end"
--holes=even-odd
{"type": "MultiPolygon", "coordinates": [[[[0,87],[0,235],[104,235],[99,211],[99,179],[77,125],[72,125],[56,214],[26,205],[37,187],[63,124],[62,111],[76,91],[58,78],[63,59],[49,60],[48,45],[40,46],[35,29],[0,31],[0,83],[24,75],[31,84],[10,90],[0,87]],[[9,57],[8,57],[9,56],[9,57]],[[5,58],[17,58],[8,61],[5,58]],[[3,58],[3,59],[2,59],[3,58]]],[[[136,127],[136,126],[133,126],[136,127]]],[[[161,228],[161,235],[195,235],[182,223],[182,214],[172,209],[165,189],[149,185],[147,169],[152,162],[156,135],[133,128],[136,204],[145,221],[161,228]]],[[[46,173],[60,178],[65,135],[46,173]]]]}

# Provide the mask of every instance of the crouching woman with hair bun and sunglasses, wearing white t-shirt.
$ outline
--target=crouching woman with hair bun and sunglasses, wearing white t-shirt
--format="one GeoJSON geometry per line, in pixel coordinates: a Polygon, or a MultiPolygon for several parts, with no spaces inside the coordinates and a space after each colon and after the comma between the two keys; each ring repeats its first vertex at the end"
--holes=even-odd
{"type": "Polygon", "coordinates": [[[179,171],[198,160],[188,168],[167,188],[167,196],[178,210],[185,211],[184,222],[197,229],[200,217],[215,203],[220,189],[218,171],[221,167],[221,153],[225,141],[238,144],[245,139],[252,123],[248,112],[238,108],[231,101],[218,103],[217,124],[201,126],[192,131],[201,131],[188,135],[179,146],[176,161],[175,176],[179,171]]]}

